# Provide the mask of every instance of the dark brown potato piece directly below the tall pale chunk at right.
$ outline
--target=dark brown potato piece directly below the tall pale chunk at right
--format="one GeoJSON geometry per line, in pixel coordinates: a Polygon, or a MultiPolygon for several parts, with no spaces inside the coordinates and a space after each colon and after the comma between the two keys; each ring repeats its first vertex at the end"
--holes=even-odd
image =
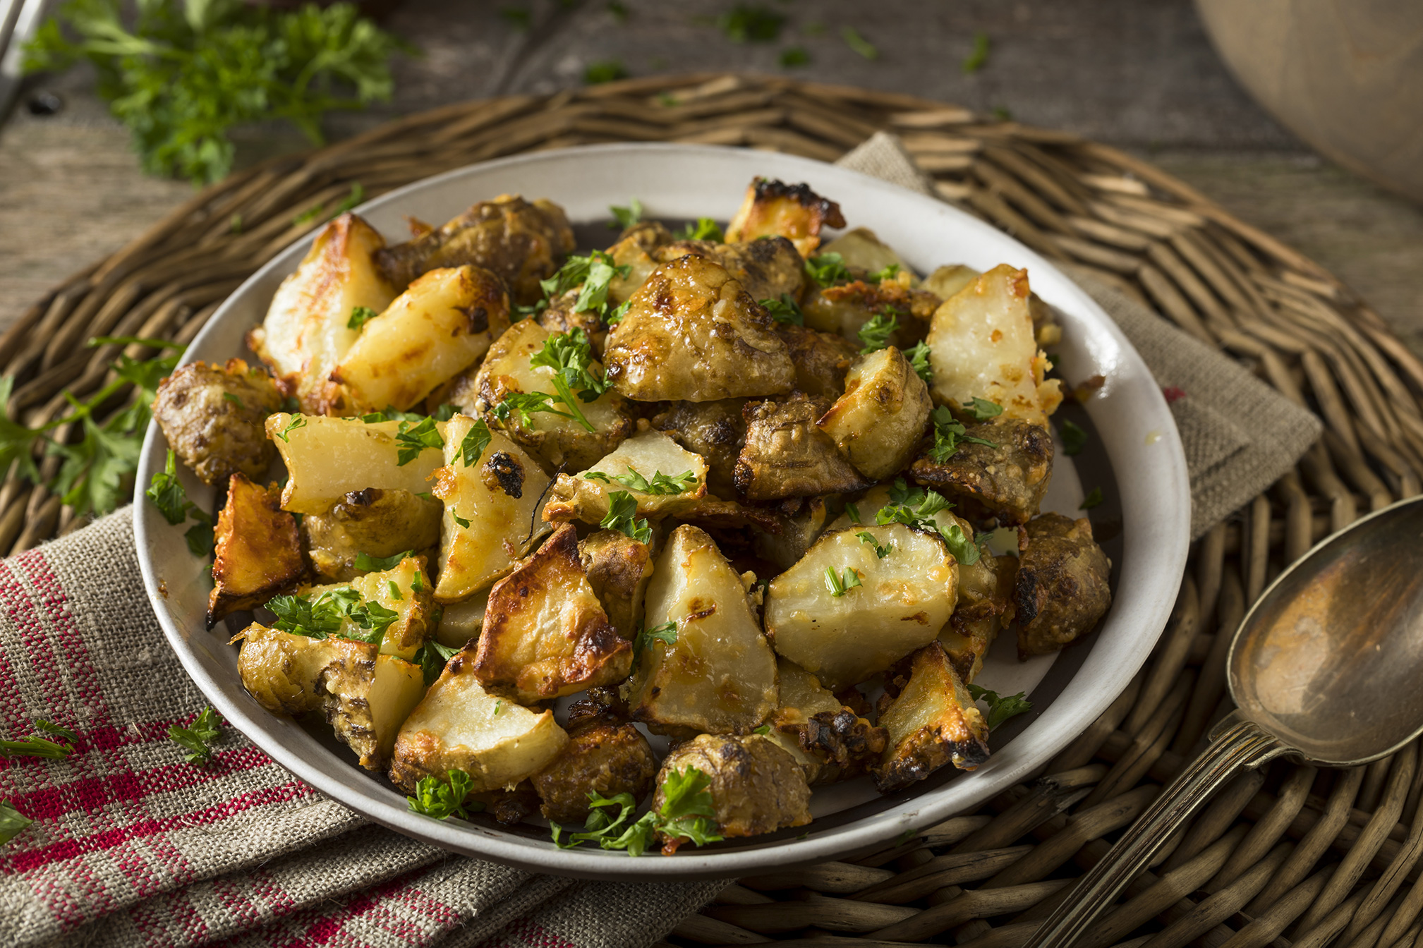
{"type": "Polygon", "coordinates": [[[922,454],[909,477],[939,491],[961,514],[978,524],[998,520],[1019,527],[1037,515],[1053,475],[1053,438],[1046,428],[1022,418],[998,417],[965,424],[969,437],[948,460],[922,454]]]}

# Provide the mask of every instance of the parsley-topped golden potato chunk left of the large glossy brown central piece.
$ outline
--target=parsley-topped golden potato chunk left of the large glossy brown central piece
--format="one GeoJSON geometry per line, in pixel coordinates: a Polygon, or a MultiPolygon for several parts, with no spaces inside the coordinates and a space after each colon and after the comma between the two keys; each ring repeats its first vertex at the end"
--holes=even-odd
{"type": "MultiPolygon", "coordinates": [[[[578,400],[578,410],[588,418],[592,431],[572,417],[572,409],[564,404],[558,404],[561,414],[514,411],[507,420],[499,420],[495,413],[499,403],[511,394],[558,394],[554,369],[529,363],[549,339],[552,335],[529,319],[515,323],[499,336],[474,379],[478,410],[492,427],[504,430],[514,441],[542,458],[545,470],[583,470],[632,434],[633,421],[619,396],[609,391],[593,401],[578,400]]],[[[589,367],[595,373],[602,369],[596,360],[589,367]]]]}

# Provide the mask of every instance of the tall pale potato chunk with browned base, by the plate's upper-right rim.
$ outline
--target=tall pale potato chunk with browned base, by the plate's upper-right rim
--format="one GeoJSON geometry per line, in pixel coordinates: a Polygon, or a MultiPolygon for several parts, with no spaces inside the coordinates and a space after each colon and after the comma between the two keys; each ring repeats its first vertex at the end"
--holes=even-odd
{"type": "Polygon", "coordinates": [[[1003,417],[1047,427],[1062,393],[1046,379],[1047,354],[1037,349],[1027,270],[1006,263],[979,276],[933,313],[929,364],[933,394],[968,406],[986,399],[1003,417]]]}

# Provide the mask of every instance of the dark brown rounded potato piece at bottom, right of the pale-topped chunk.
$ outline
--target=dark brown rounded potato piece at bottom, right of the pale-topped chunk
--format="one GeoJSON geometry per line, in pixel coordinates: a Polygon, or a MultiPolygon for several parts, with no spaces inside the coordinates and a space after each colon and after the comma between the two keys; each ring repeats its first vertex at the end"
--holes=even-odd
{"type": "Polygon", "coordinates": [[[544,770],[534,774],[539,810],[555,823],[588,818],[588,793],[605,797],[630,793],[642,800],[652,790],[657,759],[633,725],[599,715],[575,726],[569,723],[568,744],[544,770]]]}

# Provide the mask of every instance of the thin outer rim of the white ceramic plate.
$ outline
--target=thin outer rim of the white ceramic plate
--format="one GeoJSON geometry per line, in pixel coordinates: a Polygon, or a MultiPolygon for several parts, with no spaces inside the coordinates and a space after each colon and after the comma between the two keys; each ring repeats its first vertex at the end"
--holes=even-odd
{"type": "MultiPolygon", "coordinates": [[[[438,175],[431,175],[428,178],[421,178],[401,188],[396,188],[379,198],[367,201],[353,211],[357,214],[364,214],[371,209],[381,208],[388,204],[396,204],[407,195],[428,188],[435,188],[445,181],[460,178],[462,175],[470,175],[472,172],[484,171],[498,171],[501,168],[525,165],[534,162],[549,162],[549,161],[566,161],[569,157],[588,155],[591,152],[598,154],[618,154],[618,152],[633,152],[633,154],[659,154],[662,157],[673,155],[687,155],[699,158],[729,158],[736,155],[734,161],[753,161],[758,152],[736,148],[736,147],[721,147],[721,145],[686,145],[675,142],[609,142],[598,145],[578,145],[571,148],[549,149],[541,152],[518,154],[505,158],[497,158],[484,162],[474,162],[460,168],[454,168],[438,175]]],[[[791,164],[803,165],[807,169],[834,169],[837,174],[852,175],[859,179],[859,186],[874,189],[887,189],[889,192],[912,196],[919,201],[932,202],[936,209],[948,212],[949,216],[958,218],[956,225],[963,226],[969,231],[989,232],[993,239],[1009,241],[1015,245],[1015,252],[1020,266],[1033,269],[1035,272],[1050,272],[1063,285],[1064,292],[1073,293],[1076,299],[1073,300],[1079,307],[1089,310],[1106,330],[1107,335],[1114,337],[1116,344],[1120,349],[1121,359],[1127,363],[1136,363],[1133,367],[1138,369],[1150,380],[1151,373],[1137,353],[1136,347],[1131,346],[1126,335],[1117,326],[1117,323],[1106,315],[1101,306],[1083,290],[1077,283],[1059,270],[1050,260],[1036,253],[1032,248],[1016,241],[1013,236],[993,228],[992,225],[963,212],[953,205],[925,195],[922,192],[894,185],[891,182],[865,175],[850,168],[841,168],[830,162],[821,162],[811,158],[803,158],[798,155],[787,155],[783,152],[763,155],[763,159],[774,159],[777,164],[791,164]]],[[[218,326],[228,317],[229,309],[233,306],[233,300],[242,297],[250,288],[262,280],[265,280],[282,262],[283,258],[292,252],[296,245],[305,245],[312,238],[312,233],[303,233],[296,238],[290,245],[273,255],[262,268],[245,279],[232,293],[229,293],[222,305],[213,312],[208,323],[189,343],[189,347],[184,357],[184,364],[191,362],[192,357],[188,353],[201,349],[201,343],[209,333],[216,333],[218,326]]],[[[1124,666],[1114,669],[1111,688],[1103,689],[1103,683],[1096,682],[1096,693],[1087,693],[1081,697],[1087,705],[1096,707],[1090,715],[1079,715],[1081,717],[1081,729],[1086,729],[1096,717],[1100,716],[1103,710],[1117,697],[1123,688],[1130,682],[1130,679],[1146,665],[1150,658],[1151,648],[1160,638],[1165,623],[1171,615],[1177,594],[1180,591],[1180,584],[1184,579],[1185,561],[1190,552],[1190,483],[1187,477],[1185,455],[1177,433],[1170,409],[1161,396],[1158,386],[1151,386],[1150,391],[1143,391],[1151,404],[1153,423],[1161,426],[1155,431],[1160,434],[1160,440],[1165,441],[1163,450],[1170,454],[1167,465],[1167,484],[1160,485],[1160,494],[1174,502],[1167,505],[1165,521],[1155,524],[1153,532],[1164,531],[1158,535],[1165,538],[1177,537],[1180,542],[1173,547],[1167,544],[1160,545],[1158,555],[1163,557],[1163,562],[1157,567],[1160,569],[1170,569],[1174,575],[1174,581],[1170,584],[1163,582],[1160,601],[1157,601],[1146,616],[1144,626],[1146,631],[1141,633],[1141,643],[1133,653],[1131,668],[1124,666]],[[1154,396],[1154,397],[1153,397],[1154,396]],[[1170,585],[1170,595],[1167,594],[1167,586],[1170,585]],[[1106,697],[1101,697],[1107,693],[1106,697]]],[[[213,707],[222,713],[222,716],[239,732],[246,734],[259,750],[270,756],[276,763],[286,769],[293,776],[299,777],[310,787],[322,791],[324,796],[336,800],[342,806],[359,813],[364,818],[380,823],[406,836],[440,846],[441,848],[451,850],[455,853],[462,853],[467,855],[474,855],[478,858],[488,858],[497,863],[517,865],[531,871],[539,873],[554,873],[559,875],[572,875],[579,878],[620,878],[626,881],[633,880],[699,880],[699,878],[727,878],[736,875],[746,875],[754,873],[763,873],[770,868],[791,868],[798,865],[810,865],[817,863],[824,863],[828,860],[845,858],[854,853],[871,850],[882,844],[887,838],[892,838],[895,831],[912,831],[924,828],[949,818],[955,814],[969,813],[985,800],[990,799],[1003,789],[1019,781],[1023,776],[1036,770],[1037,767],[1047,763],[1053,754],[1059,753],[1066,747],[1081,729],[1072,733],[1059,733],[1050,739],[1054,744],[1050,752],[1046,752],[1040,759],[1026,759],[1016,760],[1012,766],[995,769],[992,777],[982,781],[982,786],[976,787],[973,791],[963,797],[953,800],[952,807],[936,807],[933,806],[935,791],[922,794],[908,801],[899,804],[892,804],[885,810],[861,817],[859,820],[850,821],[840,827],[832,827],[822,834],[810,836],[804,840],[776,840],[766,843],[764,846],[750,844],[734,851],[702,851],[702,853],[687,853],[682,851],[676,858],[663,858],[653,863],[645,863],[645,860],[629,858],[623,853],[605,853],[602,850],[555,850],[549,844],[536,843],[528,837],[517,836],[504,830],[491,830],[488,827],[477,826],[472,827],[478,831],[470,831],[470,824],[451,826],[445,821],[434,821],[428,817],[411,813],[408,810],[398,810],[394,806],[364,806],[359,800],[343,799],[343,781],[329,777],[316,764],[307,762],[293,749],[285,746],[283,742],[268,742],[263,729],[253,716],[250,716],[245,709],[239,707],[232,699],[229,699],[223,683],[216,680],[208,673],[206,668],[201,663],[199,656],[194,649],[188,646],[184,641],[184,633],[178,625],[176,616],[166,608],[166,596],[159,589],[159,578],[155,572],[155,562],[149,555],[152,548],[149,544],[151,534],[149,527],[157,525],[154,521],[154,511],[149,511],[144,504],[144,485],[148,484],[151,474],[155,470],[161,470],[162,457],[166,454],[166,446],[162,443],[162,436],[158,430],[157,421],[149,421],[148,430],[144,437],[144,444],[139,455],[138,477],[134,485],[134,539],[138,554],[139,571],[144,579],[144,588],[149,599],[164,635],[168,639],[169,648],[176,653],[179,663],[188,676],[194,680],[203,696],[213,705],[213,707]],[[268,744],[273,746],[268,746],[268,744]]],[[[1120,478],[1126,480],[1126,478],[1120,478]]],[[[1120,589],[1118,594],[1120,596],[1120,589]]],[[[1116,605],[1116,601],[1114,601],[1116,605]]],[[[1069,697],[1073,690],[1073,682],[1069,682],[1063,693],[1054,702],[1060,705],[1063,699],[1069,697]]],[[[1079,702],[1081,703],[1081,702],[1079,702]]],[[[1017,734],[1015,742],[1023,740],[1026,734],[1032,733],[1035,729],[1040,729],[1043,733],[1047,730],[1062,732],[1063,725],[1060,722],[1053,722],[1052,716],[1043,716],[1033,720],[1022,734],[1017,734]]],[[[1010,742],[1009,746],[1015,742],[1010,742]]],[[[1006,747],[1005,747],[1006,749],[1006,747]]],[[[1005,749],[1000,749],[998,754],[1002,754],[1005,749]]],[[[990,759],[992,760],[992,759],[990,759]]],[[[366,780],[360,771],[354,771],[353,776],[366,780]]],[[[349,787],[344,787],[349,789],[349,787]]]]}

